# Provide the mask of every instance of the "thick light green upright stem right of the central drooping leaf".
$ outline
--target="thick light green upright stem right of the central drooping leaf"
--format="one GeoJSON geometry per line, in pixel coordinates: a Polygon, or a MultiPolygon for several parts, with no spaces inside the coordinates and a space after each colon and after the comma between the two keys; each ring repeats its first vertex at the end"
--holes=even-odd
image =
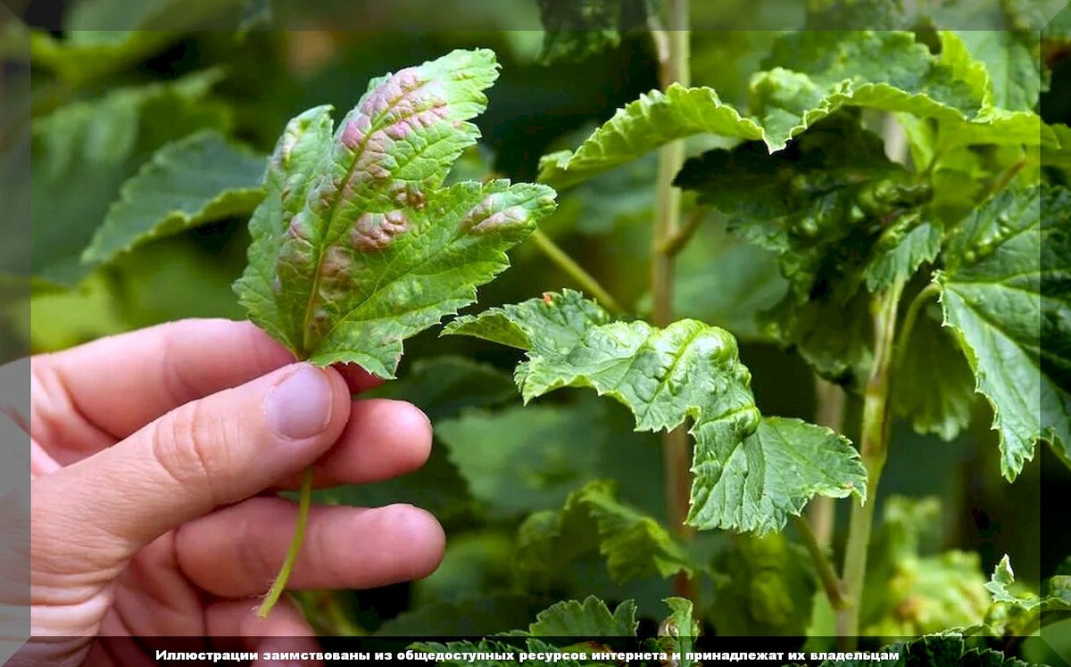
{"type": "Polygon", "coordinates": [[[878,481],[881,479],[888,448],[890,367],[894,353],[896,310],[903,291],[904,283],[896,282],[888,291],[875,294],[872,302],[874,365],[863,394],[862,441],[859,448],[866,468],[866,503],[851,506],[842,577],[848,604],[836,611],[836,634],[845,650],[856,646],[859,635],[859,609],[866,577],[866,549],[874,522],[878,481]]]}

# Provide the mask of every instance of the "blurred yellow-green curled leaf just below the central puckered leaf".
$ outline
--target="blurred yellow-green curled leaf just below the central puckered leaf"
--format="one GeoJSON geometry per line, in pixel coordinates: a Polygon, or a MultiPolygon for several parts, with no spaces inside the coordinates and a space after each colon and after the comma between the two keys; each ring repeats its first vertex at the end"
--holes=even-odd
{"type": "Polygon", "coordinates": [[[532,514],[521,526],[516,564],[530,586],[545,588],[573,560],[598,550],[618,583],[691,573],[683,547],[653,518],[618,501],[616,485],[591,482],[560,511],[532,514]]]}

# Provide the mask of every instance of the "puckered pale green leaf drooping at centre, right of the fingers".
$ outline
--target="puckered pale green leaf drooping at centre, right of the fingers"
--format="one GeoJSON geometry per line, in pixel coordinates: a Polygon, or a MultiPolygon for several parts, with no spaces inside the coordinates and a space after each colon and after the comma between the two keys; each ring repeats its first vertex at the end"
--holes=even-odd
{"type": "Polygon", "coordinates": [[[785,525],[815,495],[863,497],[851,445],[797,420],[760,420],[751,376],[727,332],[680,320],[665,329],[610,322],[575,291],[545,294],[451,322],[466,334],[528,350],[515,373],[525,399],[589,386],[628,406],[637,430],[694,423],[691,510],[700,528],[759,533],[785,525]]]}

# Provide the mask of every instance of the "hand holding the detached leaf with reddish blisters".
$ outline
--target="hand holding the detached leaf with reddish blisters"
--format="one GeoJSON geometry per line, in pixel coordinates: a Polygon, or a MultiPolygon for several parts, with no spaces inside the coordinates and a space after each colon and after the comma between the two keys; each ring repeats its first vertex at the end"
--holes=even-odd
{"type": "MultiPolygon", "coordinates": [[[[295,363],[246,322],[104,338],[33,358],[31,378],[32,631],[76,638],[24,650],[32,662],[119,664],[93,641],[117,635],[315,647],[292,603],[254,612],[297,519],[275,492],[308,465],[318,487],[404,474],[432,445],[412,405],[352,397],[377,383],[365,373],[295,363]]],[[[443,543],[410,505],[314,506],[289,588],[423,577],[443,543]]]]}

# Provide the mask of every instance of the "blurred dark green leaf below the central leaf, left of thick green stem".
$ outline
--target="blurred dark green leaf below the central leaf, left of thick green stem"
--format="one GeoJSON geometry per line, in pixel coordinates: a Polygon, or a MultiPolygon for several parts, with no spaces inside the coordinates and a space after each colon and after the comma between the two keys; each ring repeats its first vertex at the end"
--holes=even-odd
{"type": "Polygon", "coordinates": [[[806,634],[816,587],[806,550],[783,534],[740,536],[714,565],[726,575],[710,620],[719,635],[806,634]]]}

